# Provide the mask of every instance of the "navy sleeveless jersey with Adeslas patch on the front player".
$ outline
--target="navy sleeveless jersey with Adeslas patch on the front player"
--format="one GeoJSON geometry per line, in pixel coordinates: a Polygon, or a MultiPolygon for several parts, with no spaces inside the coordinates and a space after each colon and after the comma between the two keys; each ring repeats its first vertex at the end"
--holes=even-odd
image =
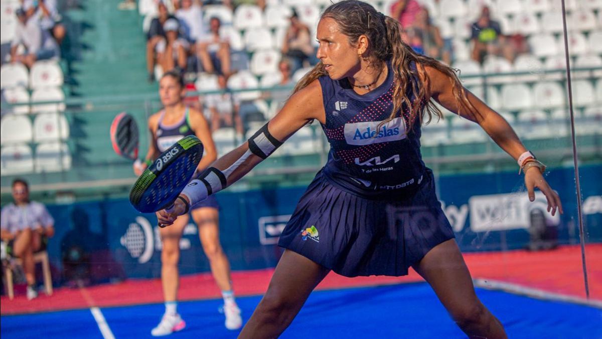
{"type": "Polygon", "coordinates": [[[354,92],[346,78],[318,79],[326,110],[322,128],[330,143],[323,173],[334,185],[372,198],[401,198],[415,192],[426,170],[420,154],[420,119],[408,128],[409,107],[404,104],[393,120],[379,127],[393,109],[390,62],[387,67],[385,82],[364,95],[354,92]]]}

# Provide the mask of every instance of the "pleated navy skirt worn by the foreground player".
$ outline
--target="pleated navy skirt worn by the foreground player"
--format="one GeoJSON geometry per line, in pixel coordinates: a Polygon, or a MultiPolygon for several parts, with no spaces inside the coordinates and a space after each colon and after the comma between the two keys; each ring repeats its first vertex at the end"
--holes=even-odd
{"type": "Polygon", "coordinates": [[[430,170],[411,195],[388,200],[344,191],[320,171],[278,245],[342,276],[404,276],[433,247],[452,238],[430,170]]]}

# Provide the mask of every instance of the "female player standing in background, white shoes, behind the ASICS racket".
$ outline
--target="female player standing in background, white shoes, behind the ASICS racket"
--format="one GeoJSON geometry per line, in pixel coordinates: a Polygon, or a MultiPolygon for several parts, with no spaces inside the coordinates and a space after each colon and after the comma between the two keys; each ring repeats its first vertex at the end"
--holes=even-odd
{"type": "MultiPolygon", "coordinates": [[[[134,165],[137,176],[144,171],[150,160],[181,138],[196,135],[203,142],[205,154],[200,160],[198,170],[204,170],[217,157],[216,146],[211,139],[209,125],[198,110],[184,105],[184,83],[176,72],[167,72],[159,82],[159,95],[164,109],[149,118],[149,129],[152,141],[146,154],[146,161],[134,165]]],[[[152,162],[151,162],[152,163],[152,162]]],[[[240,309],[234,300],[230,281],[230,263],[223,253],[219,241],[219,205],[215,197],[209,197],[197,204],[192,211],[194,223],[199,227],[200,242],[209,259],[211,273],[216,279],[217,286],[222,290],[226,328],[238,329],[242,326],[240,309]]],[[[179,241],[184,227],[188,224],[188,214],[178,217],[172,227],[160,229],[161,242],[161,283],[165,299],[165,314],[159,325],[152,330],[152,335],[167,335],[184,328],[185,323],[177,312],[176,299],[178,294],[179,274],[179,241]]]]}

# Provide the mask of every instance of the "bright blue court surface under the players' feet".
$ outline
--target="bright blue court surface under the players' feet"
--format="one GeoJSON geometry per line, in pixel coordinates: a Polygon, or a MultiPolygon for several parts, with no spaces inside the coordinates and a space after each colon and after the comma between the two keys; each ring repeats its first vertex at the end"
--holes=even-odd
{"type": "MultiPolygon", "coordinates": [[[[141,291],[143,293],[143,291],[141,291]]],[[[509,338],[602,338],[602,309],[477,289],[509,338]]],[[[246,321],[261,298],[240,297],[246,321]]],[[[223,326],[222,300],[181,302],[187,327],[169,338],[235,338],[223,326]]],[[[8,338],[144,338],[160,321],[162,304],[102,308],[101,333],[90,309],[1,318],[8,338]]],[[[98,317],[97,317],[98,319],[98,317]]],[[[317,291],[281,338],[465,338],[426,284],[317,291]]]]}

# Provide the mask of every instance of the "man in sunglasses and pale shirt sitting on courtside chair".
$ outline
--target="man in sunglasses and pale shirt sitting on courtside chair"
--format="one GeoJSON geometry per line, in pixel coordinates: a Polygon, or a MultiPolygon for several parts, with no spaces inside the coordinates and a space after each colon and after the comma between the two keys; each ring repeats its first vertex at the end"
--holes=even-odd
{"type": "Polygon", "coordinates": [[[7,242],[11,254],[23,261],[27,280],[27,299],[37,297],[34,253],[46,249],[46,241],[54,235],[54,219],[46,207],[29,201],[29,188],[22,179],[13,181],[13,200],[2,209],[0,237],[7,242]]]}

